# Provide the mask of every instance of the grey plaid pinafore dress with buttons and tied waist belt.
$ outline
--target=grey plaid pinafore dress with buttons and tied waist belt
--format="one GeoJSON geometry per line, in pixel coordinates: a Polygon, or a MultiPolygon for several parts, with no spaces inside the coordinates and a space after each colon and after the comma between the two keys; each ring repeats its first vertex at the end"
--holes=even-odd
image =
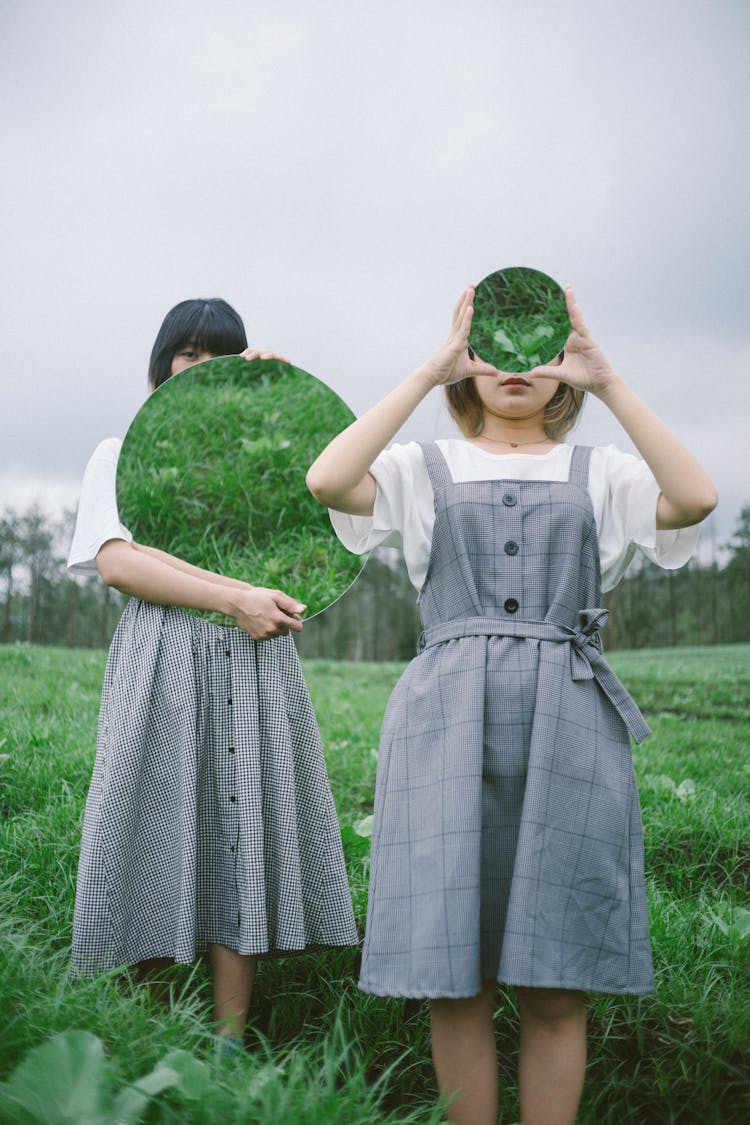
{"type": "Polygon", "coordinates": [[[649,728],[598,641],[590,450],[567,482],[466,483],[423,451],[424,632],[383,721],[360,988],[648,992],[627,731],[649,728]]]}

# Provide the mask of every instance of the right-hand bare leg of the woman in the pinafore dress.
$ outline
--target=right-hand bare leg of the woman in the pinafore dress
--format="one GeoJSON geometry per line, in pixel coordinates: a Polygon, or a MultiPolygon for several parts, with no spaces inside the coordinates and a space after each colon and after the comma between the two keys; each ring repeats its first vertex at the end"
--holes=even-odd
{"type": "Polygon", "coordinates": [[[586,1008],[571,989],[519,988],[523,1125],[573,1125],[586,1071],[586,1008]]]}

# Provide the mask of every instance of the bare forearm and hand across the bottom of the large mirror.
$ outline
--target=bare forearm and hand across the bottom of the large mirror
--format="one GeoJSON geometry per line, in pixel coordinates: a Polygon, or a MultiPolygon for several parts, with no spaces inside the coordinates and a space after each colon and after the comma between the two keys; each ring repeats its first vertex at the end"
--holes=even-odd
{"type": "Polygon", "coordinates": [[[173,556],[165,556],[171,559],[166,562],[160,556],[164,552],[124,539],[108,539],[99,549],[97,567],[107,585],[124,594],[160,605],[224,613],[234,618],[253,640],[286,636],[290,629],[301,630],[298,614],[305,606],[280,590],[233,579],[217,580],[220,575],[209,575],[173,556]]]}

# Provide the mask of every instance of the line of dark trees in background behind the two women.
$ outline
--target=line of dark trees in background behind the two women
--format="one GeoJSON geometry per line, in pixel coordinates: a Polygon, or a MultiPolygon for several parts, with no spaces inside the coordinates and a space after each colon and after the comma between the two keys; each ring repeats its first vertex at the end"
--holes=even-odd
{"type": "MultiPolygon", "coordinates": [[[[126,596],[98,578],[65,572],[74,513],[52,519],[34,506],[0,516],[0,641],[105,648],[126,596]]],[[[607,648],[714,645],[750,640],[750,505],[740,513],[723,562],[693,560],[661,570],[642,560],[605,596],[607,648]]],[[[403,561],[381,552],[299,637],[302,656],[406,660],[419,615],[403,561]]]]}

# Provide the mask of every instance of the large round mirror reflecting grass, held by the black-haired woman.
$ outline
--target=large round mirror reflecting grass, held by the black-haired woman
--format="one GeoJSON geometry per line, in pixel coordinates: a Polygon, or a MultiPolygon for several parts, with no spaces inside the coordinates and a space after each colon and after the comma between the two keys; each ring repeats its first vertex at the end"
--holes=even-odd
{"type": "Polygon", "coordinates": [[[338,542],[305,475],[353,418],[338,395],[290,363],[198,363],[135,416],[117,467],[119,518],[144,546],[282,590],[307,605],[306,618],[320,613],[363,560],[338,542]]]}

